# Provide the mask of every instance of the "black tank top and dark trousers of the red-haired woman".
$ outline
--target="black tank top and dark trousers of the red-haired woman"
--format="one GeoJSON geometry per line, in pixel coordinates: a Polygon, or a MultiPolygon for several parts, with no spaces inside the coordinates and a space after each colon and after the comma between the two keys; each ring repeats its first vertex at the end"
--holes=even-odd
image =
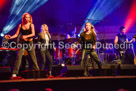
{"type": "MultiPolygon", "coordinates": [[[[30,24],[30,28],[28,30],[24,30],[22,28],[22,25],[21,25],[20,33],[22,35],[29,35],[29,34],[31,34],[31,24],[30,24]]],[[[35,71],[38,71],[39,70],[39,66],[37,64],[37,59],[36,59],[36,55],[35,55],[35,49],[34,49],[34,46],[33,46],[33,41],[23,41],[23,40],[20,40],[20,43],[32,46],[32,49],[30,49],[30,46],[29,46],[26,50],[28,51],[28,53],[30,54],[30,57],[32,59],[33,69],[35,71]]],[[[18,50],[18,54],[17,54],[16,61],[15,61],[15,66],[13,68],[13,74],[18,74],[18,71],[19,71],[19,68],[20,68],[20,65],[21,65],[21,60],[22,60],[22,56],[24,54],[24,51],[25,51],[25,49],[23,49],[23,48],[20,48],[18,50]]]]}

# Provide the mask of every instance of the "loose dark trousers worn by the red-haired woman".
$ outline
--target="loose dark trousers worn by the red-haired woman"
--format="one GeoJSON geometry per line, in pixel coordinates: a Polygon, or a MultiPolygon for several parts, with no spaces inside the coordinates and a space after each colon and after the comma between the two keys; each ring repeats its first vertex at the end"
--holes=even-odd
{"type": "MultiPolygon", "coordinates": [[[[36,55],[35,55],[35,49],[34,49],[34,46],[33,46],[33,41],[23,42],[22,44],[27,44],[27,45],[31,46],[31,47],[28,46],[28,48],[26,50],[28,51],[28,54],[30,55],[30,57],[32,59],[33,69],[35,71],[38,71],[39,66],[38,66],[38,63],[37,63],[36,55]]],[[[24,51],[25,51],[25,49],[23,49],[23,48],[18,50],[18,54],[17,54],[16,61],[15,61],[15,64],[14,64],[14,68],[13,68],[13,72],[12,72],[13,74],[18,74],[24,51]]]]}

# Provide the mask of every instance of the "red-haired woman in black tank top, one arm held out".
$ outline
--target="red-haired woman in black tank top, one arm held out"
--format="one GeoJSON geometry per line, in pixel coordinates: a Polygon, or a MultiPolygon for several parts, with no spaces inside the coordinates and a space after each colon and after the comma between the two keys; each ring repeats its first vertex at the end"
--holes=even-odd
{"type": "Polygon", "coordinates": [[[23,48],[23,47],[19,48],[11,79],[14,79],[17,77],[17,74],[21,65],[22,56],[24,54],[25,49],[28,51],[32,59],[33,69],[35,71],[39,70],[36,55],[35,55],[35,49],[33,46],[33,38],[32,38],[33,36],[35,36],[35,29],[34,29],[34,24],[32,23],[32,16],[29,13],[23,14],[22,24],[19,24],[17,32],[13,36],[5,35],[5,38],[6,39],[17,38],[20,33],[22,34],[20,43],[22,45],[25,44],[30,46],[28,46],[27,48],[23,48]]]}

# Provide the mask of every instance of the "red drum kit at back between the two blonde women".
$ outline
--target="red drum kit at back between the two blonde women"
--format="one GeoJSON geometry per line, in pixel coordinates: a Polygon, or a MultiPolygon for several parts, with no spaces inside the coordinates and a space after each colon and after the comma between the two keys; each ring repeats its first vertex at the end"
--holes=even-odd
{"type": "Polygon", "coordinates": [[[53,53],[54,64],[77,64],[81,58],[81,50],[75,43],[77,41],[78,38],[69,38],[63,41],[64,44],[69,44],[69,47],[60,48],[59,46],[57,46],[56,50],[53,53]]]}

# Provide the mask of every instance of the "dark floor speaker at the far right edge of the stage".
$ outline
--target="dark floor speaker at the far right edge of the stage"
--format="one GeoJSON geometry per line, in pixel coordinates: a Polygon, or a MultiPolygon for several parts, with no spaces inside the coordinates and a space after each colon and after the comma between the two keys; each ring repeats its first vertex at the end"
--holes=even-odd
{"type": "Polygon", "coordinates": [[[136,75],[136,65],[133,64],[120,64],[117,70],[119,75],[136,75]]]}

